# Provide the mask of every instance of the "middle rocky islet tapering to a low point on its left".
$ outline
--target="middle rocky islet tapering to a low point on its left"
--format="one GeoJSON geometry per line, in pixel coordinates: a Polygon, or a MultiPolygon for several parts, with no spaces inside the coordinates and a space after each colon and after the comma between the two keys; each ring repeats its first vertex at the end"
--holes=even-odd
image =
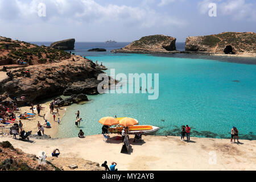
{"type": "Polygon", "coordinates": [[[168,53],[176,50],[176,38],[164,35],[144,36],[128,46],[112,50],[112,52],[123,53],[168,53]]]}

